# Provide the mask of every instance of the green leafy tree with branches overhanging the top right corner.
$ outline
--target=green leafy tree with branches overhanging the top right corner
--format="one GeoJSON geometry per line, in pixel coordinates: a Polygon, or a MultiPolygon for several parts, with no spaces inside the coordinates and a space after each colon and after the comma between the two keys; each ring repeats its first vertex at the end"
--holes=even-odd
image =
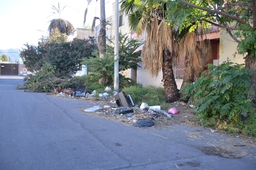
{"type": "Polygon", "coordinates": [[[180,9],[178,15],[174,10],[168,11],[169,19],[173,22],[176,19],[190,20],[190,22],[204,21],[227,30],[227,33],[238,43],[238,52],[245,55],[245,68],[253,71],[252,86],[256,94],[256,0],[168,2],[172,9],[180,9]],[[183,8],[188,10],[185,11],[183,8]]]}

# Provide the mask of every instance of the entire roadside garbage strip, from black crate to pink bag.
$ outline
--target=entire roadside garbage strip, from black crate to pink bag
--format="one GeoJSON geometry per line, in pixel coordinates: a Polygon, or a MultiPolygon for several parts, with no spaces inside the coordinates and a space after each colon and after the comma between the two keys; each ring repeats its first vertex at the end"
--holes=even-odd
{"type": "Polygon", "coordinates": [[[152,127],[155,125],[155,120],[159,117],[171,119],[173,115],[178,114],[178,109],[172,107],[168,111],[162,110],[160,105],[149,106],[142,102],[140,106],[135,105],[130,94],[125,92],[112,92],[110,87],[105,88],[104,93],[97,93],[96,91],[89,94],[86,91],[86,86],[76,86],[74,89],[66,88],[59,92],[57,96],[76,97],[82,99],[99,99],[101,101],[109,101],[107,104],[95,105],[84,109],[83,111],[90,114],[100,114],[109,117],[115,117],[122,120],[122,122],[129,123],[134,127],[152,127]],[[111,95],[109,95],[111,94],[111,95]],[[111,98],[112,97],[112,98],[111,98]]]}

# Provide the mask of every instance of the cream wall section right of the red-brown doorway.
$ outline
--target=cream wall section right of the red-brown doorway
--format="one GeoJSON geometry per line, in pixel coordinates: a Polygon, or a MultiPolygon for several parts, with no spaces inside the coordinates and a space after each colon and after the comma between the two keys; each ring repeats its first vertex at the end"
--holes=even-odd
{"type": "Polygon", "coordinates": [[[219,38],[219,64],[227,61],[227,59],[237,64],[244,63],[243,56],[238,54],[235,55],[236,51],[237,43],[229,34],[227,34],[226,30],[221,29],[221,35],[219,38]]]}

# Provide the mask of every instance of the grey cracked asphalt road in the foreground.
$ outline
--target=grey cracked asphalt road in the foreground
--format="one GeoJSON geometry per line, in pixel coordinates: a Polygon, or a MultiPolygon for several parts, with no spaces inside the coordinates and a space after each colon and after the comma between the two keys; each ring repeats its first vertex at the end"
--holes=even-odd
{"type": "MultiPolygon", "coordinates": [[[[10,79],[11,78],[11,79],[10,79]]],[[[206,128],[136,128],[93,104],[16,89],[0,76],[0,169],[256,169],[256,148],[206,128]]]]}

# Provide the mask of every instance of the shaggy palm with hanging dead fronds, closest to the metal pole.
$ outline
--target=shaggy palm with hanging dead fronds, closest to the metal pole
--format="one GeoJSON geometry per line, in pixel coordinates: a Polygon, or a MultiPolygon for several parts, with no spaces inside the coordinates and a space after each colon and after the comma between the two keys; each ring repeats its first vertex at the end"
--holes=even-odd
{"type": "Polygon", "coordinates": [[[144,30],[147,37],[142,49],[142,62],[150,74],[157,76],[158,71],[163,72],[163,87],[167,102],[179,99],[179,92],[173,74],[173,58],[176,58],[175,32],[165,24],[163,17],[165,7],[154,1],[135,5],[136,1],[122,1],[121,10],[126,12],[130,28],[141,35],[144,30]]]}

